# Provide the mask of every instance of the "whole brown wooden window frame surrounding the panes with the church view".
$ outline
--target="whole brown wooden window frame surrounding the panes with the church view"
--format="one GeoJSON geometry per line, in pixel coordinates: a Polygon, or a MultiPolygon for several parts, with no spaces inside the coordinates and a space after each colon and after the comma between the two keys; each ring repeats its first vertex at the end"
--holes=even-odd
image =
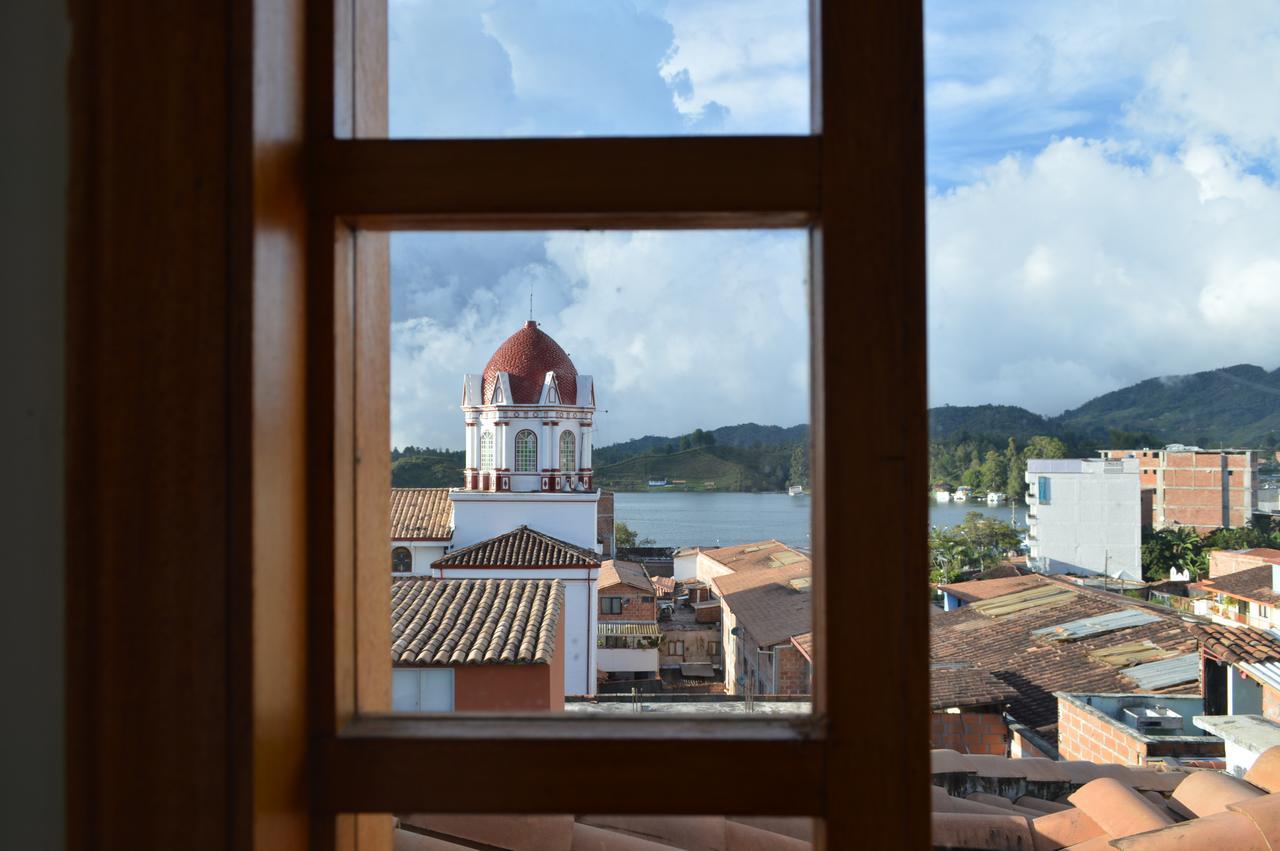
{"type": "Polygon", "coordinates": [[[818,847],[925,847],[919,5],[815,0],[812,134],[686,138],[378,138],[387,131],[385,0],[329,0],[312,12],[312,846],[388,839],[385,816],[356,814],[436,811],[804,815],[823,819],[818,847]],[[620,161],[628,168],[614,168],[620,161]],[[809,718],[387,713],[387,232],[581,227],[810,232],[809,718]],[[826,569],[836,563],[847,569],[826,569]],[[876,566],[878,603],[847,617],[861,599],[864,566],[876,566]],[[856,676],[837,667],[854,658],[856,676]],[[662,792],[663,765],[628,761],[628,787],[639,791],[618,796],[582,784],[575,768],[672,741],[690,764],[745,761],[785,782],[714,783],[681,800],[662,792]],[[433,774],[424,765],[451,768],[433,774]]]}

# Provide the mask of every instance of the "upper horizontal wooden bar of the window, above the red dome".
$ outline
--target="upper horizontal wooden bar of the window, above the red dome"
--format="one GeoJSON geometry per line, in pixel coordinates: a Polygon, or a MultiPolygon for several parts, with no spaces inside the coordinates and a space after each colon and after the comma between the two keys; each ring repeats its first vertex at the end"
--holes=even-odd
{"type": "Polygon", "coordinates": [[[818,139],[692,137],[323,145],[319,209],[380,227],[803,225],[818,139]]]}

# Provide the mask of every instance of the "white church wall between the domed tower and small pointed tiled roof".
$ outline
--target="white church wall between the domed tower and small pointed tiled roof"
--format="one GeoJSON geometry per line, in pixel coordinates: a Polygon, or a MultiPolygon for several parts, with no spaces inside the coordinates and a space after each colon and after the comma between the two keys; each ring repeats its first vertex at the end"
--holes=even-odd
{"type": "Polygon", "coordinates": [[[453,549],[524,525],[575,546],[600,552],[595,540],[598,493],[490,494],[454,490],[449,493],[449,499],[453,502],[453,549]]]}

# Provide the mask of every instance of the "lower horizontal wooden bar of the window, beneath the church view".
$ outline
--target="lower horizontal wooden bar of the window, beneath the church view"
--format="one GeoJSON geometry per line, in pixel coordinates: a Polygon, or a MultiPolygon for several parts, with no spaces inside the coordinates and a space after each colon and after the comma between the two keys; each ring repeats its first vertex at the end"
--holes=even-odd
{"type": "Polygon", "coordinates": [[[819,731],[815,719],[777,718],[367,718],[320,747],[319,805],[366,813],[818,815],[819,731]],[[696,793],[671,793],[672,772],[691,767],[705,768],[696,793]]]}

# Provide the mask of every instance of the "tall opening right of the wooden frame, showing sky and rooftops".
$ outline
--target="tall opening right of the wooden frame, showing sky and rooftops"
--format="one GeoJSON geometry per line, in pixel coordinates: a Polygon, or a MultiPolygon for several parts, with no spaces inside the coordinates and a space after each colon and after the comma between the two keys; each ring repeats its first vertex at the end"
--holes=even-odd
{"type": "Polygon", "coordinates": [[[934,842],[1262,842],[1171,796],[1280,742],[1280,12],[925,22],[934,842]]]}

